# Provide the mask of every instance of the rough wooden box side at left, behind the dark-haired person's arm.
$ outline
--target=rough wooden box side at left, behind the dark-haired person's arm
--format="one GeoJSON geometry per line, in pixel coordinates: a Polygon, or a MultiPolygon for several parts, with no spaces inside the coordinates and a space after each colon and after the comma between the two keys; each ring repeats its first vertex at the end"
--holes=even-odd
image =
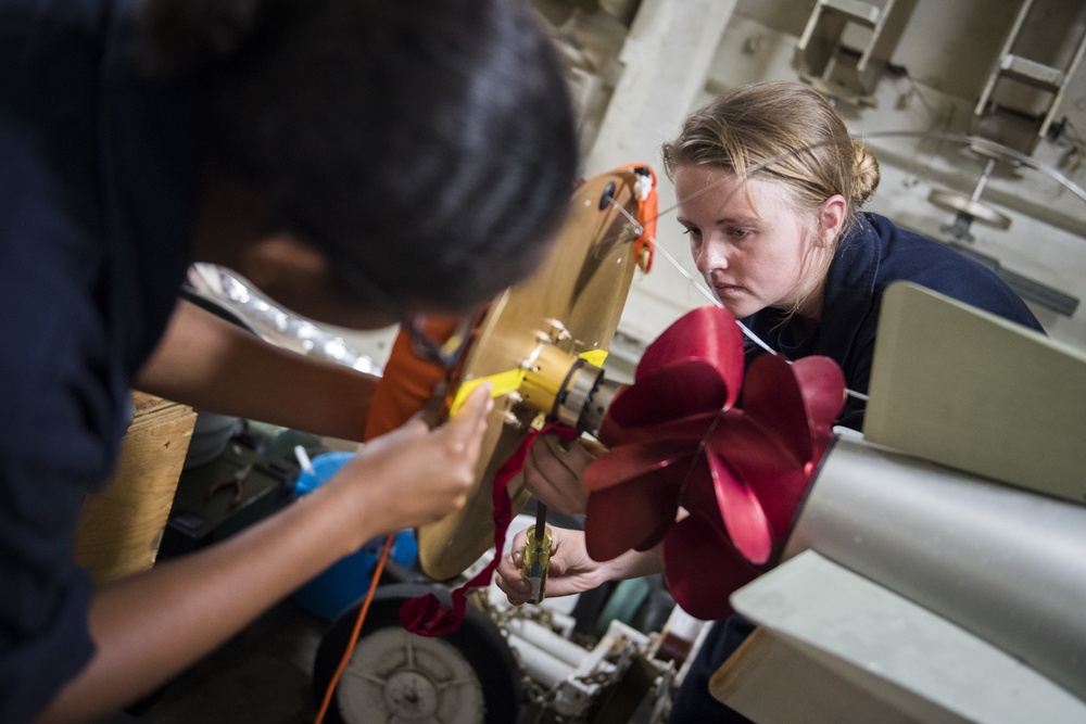
{"type": "Polygon", "coordinates": [[[75,560],[99,586],[154,564],[195,424],[191,407],[141,392],[132,402],[117,471],[87,496],[76,529],[75,560]]]}

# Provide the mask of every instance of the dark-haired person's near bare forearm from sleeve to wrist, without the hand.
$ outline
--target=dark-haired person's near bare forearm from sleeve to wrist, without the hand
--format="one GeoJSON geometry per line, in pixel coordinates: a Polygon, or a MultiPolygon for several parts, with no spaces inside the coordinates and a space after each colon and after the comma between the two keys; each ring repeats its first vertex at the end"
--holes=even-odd
{"type": "Polygon", "coordinates": [[[199,660],[367,536],[332,488],[226,542],[108,587],[91,605],[98,651],[40,722],[88,721],[199,660]]]}

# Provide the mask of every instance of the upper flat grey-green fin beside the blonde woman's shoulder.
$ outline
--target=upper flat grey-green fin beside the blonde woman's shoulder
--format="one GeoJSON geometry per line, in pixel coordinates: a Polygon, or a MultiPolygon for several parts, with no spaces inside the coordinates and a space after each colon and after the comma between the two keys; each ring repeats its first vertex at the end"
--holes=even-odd
{"type": "Polygon", "coordinates": [[[863,435],[1086,501],[1086,353],[912,283],[883,299],[863,435]]]}

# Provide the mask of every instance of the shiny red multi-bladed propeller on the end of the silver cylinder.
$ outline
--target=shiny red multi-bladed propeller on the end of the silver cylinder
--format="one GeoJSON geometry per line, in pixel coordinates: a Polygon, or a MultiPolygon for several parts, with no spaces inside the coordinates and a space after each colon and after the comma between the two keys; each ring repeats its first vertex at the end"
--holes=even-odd
{"type": "Polygon", "coordinates": [[[743,364],[725,309],[682,317],[611,403],[599,431],[609,452],[585,472],[589,555],[662,541],[671,595],[702,619],[727,615],[731,593],[772,564],[845,402],[828,357],[761,355],[745,378],[743,364]]]}

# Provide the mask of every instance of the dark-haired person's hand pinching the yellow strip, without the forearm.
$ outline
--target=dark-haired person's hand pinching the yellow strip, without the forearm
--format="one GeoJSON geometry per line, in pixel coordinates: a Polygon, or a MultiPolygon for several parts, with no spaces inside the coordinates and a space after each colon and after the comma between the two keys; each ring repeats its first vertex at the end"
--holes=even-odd
{"type": "Polygon", "coordinates": [[[369,529],[389,532],[443,518],[465,505],[476,482],[492,407],[490,384],[481,384],[441,427],[431,429],[431,412],[422,410],[361,446],[332,483],[354,486],[356,515],[369,529]]]}

